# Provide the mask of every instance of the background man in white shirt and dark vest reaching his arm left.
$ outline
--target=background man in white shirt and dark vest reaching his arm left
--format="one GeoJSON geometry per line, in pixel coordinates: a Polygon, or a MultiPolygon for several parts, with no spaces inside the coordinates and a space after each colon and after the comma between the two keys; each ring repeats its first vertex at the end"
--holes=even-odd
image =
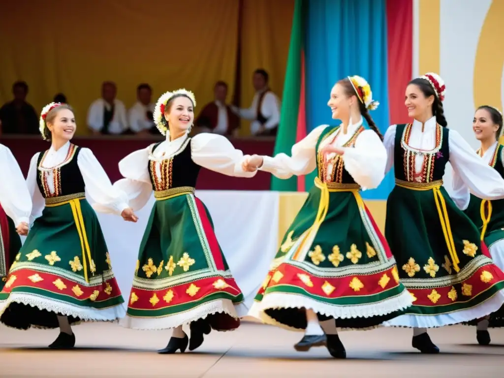
{"type": "Polygon", "coordinates": [[[280,100],[268,86],[269,75],[263,69],[254,71],[253,85],[256,90],[248,109],[232,107],[241,118],[252,120],[250,133],[254,136],[275,136],[280,123],[280,100]]]}

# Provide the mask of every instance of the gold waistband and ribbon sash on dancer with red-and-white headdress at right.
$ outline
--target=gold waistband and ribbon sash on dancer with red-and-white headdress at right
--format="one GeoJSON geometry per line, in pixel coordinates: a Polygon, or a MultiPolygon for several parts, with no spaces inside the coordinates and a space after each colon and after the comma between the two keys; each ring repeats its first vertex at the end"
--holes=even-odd
{"type": "Polygon", "coordinates": [[[445,235],[448,252],[450,253],[450,257],[452,259],[453,269],[455,269],[456,272],[460,272],[460,260],[457,255],[457,250],[455,249],[455,242],[453,240],[452,228],[450,226],[450,219],[448,217],[445,198],[443,197],[443,193],[441,193],[441,191],[439,190],[439,188],[443,185],[443,180],[435,180],[432,182],[410,182],[396,178],[396,185],[413,191],[431,190],[434,193],[434,201],[437,208],[437,214],[439,215],[441,228],[443,228],[443,234],[445,235]]]}

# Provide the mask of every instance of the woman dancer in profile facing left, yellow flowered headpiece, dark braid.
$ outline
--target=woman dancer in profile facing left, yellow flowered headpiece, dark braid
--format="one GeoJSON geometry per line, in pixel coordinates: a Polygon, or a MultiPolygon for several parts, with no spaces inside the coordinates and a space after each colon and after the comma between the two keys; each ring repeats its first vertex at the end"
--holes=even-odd
{"type": "Polygon", "coordinates": [[[327,345],[332,356],[345,358],[336,327],[376,327],[411,305],[387,242],[359,195],[361,188],[380,184],[387,163],[368,113],[377,105],[363,78],[342,79],[328,102],[339,127],[314,129],[292,147],[291,157],[254,155],[244,162],[247,170],[279,178],[318,170],[249,312],[267,324],[304,329],[294,346],[298,351],[327,345]],[[364,129],[362,117],[371,130],[364,129]]]}

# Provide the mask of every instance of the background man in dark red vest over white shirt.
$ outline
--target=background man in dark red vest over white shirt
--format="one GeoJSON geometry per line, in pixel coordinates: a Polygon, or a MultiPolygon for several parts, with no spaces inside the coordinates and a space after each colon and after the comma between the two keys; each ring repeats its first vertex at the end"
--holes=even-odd
{"type": "Polygon", "coordinates": [[[226,104],[227,84],[225,82],[218,81],[215,84],[214,96],[215,100],[203,107],[196,119],[196,126],[200,132],[236,136],[239,117],[226,104]]]}

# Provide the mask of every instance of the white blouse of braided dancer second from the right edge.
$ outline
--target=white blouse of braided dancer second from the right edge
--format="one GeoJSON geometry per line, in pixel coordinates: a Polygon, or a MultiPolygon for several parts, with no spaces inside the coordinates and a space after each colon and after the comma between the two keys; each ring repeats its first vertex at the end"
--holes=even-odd
{"type": "MultiPolygon", "coordinates": [[[[424,124],[413,121],[409,146],[419,150],[432,150],[435,147],[436,118],[432,117],[424,124]]],[[[397,125],[392,125],[385,133],[384,144],[389,155],[388,172],[394,165],[394,145],[397,125]]],[[[488,163],[476,155],[471,146],[457,133],[450,130],[449,138],[450,164],[454,174],[454,188],[450,196],[461,209],[469,204],[469,190],[479,198],[496,200],[504,198],[504,179],[488,163]],[[457,182],[457,184],[456,184],[457,182]]],[[[421,173],[424,157],[415,156],[415,171],[421,173]]]]}

